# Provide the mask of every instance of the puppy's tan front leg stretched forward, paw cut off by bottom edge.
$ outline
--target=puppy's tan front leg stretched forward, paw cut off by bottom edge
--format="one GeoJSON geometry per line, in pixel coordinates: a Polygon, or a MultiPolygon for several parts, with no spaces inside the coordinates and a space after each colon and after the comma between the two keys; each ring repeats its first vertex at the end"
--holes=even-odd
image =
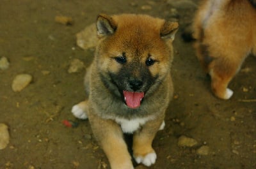
{"type": "Polygon", "coordinates": [[[93,134],[108,157],[111,169],[134,169],[120,126],[98,115],[88,115],[93,134]]]}

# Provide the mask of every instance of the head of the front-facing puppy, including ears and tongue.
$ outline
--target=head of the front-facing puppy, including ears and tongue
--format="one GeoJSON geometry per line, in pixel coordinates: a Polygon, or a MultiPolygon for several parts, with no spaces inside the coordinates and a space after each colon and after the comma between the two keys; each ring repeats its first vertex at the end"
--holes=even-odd
{"type": "Polygon", "coordinates": [[[99,15],[97,66],[102,81],[129,108],[138,108],[170,71],[177,22],[147,15],[99,15]]]}

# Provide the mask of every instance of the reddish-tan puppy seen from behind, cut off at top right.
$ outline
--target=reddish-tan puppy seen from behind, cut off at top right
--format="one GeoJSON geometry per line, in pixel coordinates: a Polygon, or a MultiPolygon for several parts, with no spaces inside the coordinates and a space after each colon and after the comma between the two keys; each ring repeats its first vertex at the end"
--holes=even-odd
{"type": "Polygon", "coordinates": [[[246,56],[256,55],[256,1],[202,1],[193,25],[196,53],[211,76],[212,91],[229,99],[228,83],[246,56]]]}

